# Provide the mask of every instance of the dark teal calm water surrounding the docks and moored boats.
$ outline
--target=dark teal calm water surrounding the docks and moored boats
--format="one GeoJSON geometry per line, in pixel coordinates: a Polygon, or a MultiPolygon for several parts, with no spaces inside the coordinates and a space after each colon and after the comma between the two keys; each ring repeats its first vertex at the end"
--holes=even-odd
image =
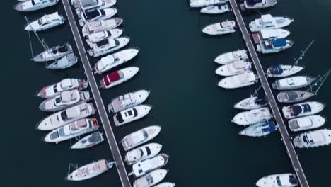
{"type": "MultiPolygon", "coordinates": [[[[45,13],[59,11],[65,15],[62,3],[33,13],[18,13],[16,1],[2,1],[1,11],[1,186],[120,186],[115,169],[88,181],[64,181],[69,163],[87,164],[97,159],[112,159],[106,142],[85,150],[70,150],[70,142],[50,145],[42,142],[45,132],[35,130],[35,124],[47,113],[39,111],[42,99],[35,92],[47,84],[66,77],[84,79],[81,64],[54,72],[44,63],[30,61],[28,33],[22,29],[23,16],[30,20],[45,13]]],[[[238,110],[233,104],[247,98],[259,85],[235,91],[216,86],[221,77],[214,74],[214,57],[221,52],[244,47],[240,32],[224,37],[206,37],[201,29],[208,23],[234,19],[233,13],[204,16],[190,9],[187,1],[118,1],[118,15],[124,18],[124,35],[131,38],[130,47],[139,47],[138,57],[122,67],[137,66],[140,72],[131,81],[113,89],[101,91],[105,105],[111,98],[138,89],[151,90],[146,103],[153,105],[147,118],[121,128],[115,128],[117,141],[129,132],[147,125],[161,125],[155,142],[170,155],[170,169],[165,181],[176,186],[255,186],[261,176],[293,172],[279,133],[252,139],[238,136],[242,128],[230,122],[238,110]]],[[[294,47],[277,55],[260,58],[267,68],[272,64],[294,62],[311,40],[315,44],[306,53],[301,74],[323,74],[331,67],[330,28],[331,3],[328,0],[279,1],[273,15],[289,16],[294,47]]],[[[267,11],[265,13],[267,13],[267,11]]],[[[259,16],[250,13],[245,21],[259,16]]],[[[69,41],[76,46],[69,23],[40,33],[49,46],[69,41]]],[[[32,35],[33,50],[42,47],[32,35]]],[[[92,60],[94,65],[96,60],[92,60]]],[[[101,79],[103,75],[97,75],[101,79]]],[[[313,100],[330,104],[330,81],[313,100]]],[[[322,115],[330,116],[327,107],[322,115]]],[[[110,116],[111,117],[111,116],[110,116]]],[[[330,128],[326,124],[325,128],[330,128]]],[[[122,151],[122,147],[121,151],[122,151]]],[[[124,155],[124,152],[123,152],[124,155]]],[[[310,186],[330,186],[331,147],[298,150],[310,186]]],[[[129,170],[129,168],[128,168],[129,170]]]]}

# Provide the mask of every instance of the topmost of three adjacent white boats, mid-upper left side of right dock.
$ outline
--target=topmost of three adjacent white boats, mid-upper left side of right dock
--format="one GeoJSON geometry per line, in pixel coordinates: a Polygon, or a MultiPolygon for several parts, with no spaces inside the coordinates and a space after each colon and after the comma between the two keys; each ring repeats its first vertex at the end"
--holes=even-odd
{"type": "Polygon", "coordinates": [[[248,60],[248,55],[246,50],[237,50],[232,52],[222,53],[215,58],[217,64],[229,64],[238,60],[246,61],[248,60]]]}

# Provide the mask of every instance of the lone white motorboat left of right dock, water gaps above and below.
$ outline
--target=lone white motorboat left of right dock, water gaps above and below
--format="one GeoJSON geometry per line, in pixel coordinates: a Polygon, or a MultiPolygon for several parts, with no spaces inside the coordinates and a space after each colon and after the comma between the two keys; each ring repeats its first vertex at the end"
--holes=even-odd
{"type": "Polygon", "coordinates": [[[236,32],[236,30],[234,29],[235,26],[235,21],[223,21],[219,23],[213,23],[202,29],[202,33],[205,33],[207,35],[224,35],[228,33],[234,33],[236,32]]]}

